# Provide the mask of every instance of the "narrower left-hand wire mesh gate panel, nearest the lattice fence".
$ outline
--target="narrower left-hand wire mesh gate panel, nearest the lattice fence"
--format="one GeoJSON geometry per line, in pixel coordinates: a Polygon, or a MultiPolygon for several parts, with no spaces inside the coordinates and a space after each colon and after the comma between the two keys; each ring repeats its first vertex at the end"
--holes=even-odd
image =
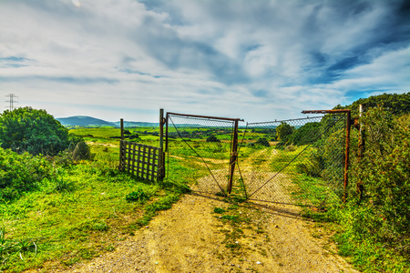
{"type": "Polygon", "coordinates": [[[195,191],[225,195],[235,120],[168,113],[168,177],[195,191]]]}

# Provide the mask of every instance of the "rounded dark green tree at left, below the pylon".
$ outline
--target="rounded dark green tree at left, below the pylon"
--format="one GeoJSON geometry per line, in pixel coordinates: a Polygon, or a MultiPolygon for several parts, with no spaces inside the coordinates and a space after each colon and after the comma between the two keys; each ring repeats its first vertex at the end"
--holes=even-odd
{"type": "Polygon", "coordinates": [[[0,115],[1,147],[19,154],[55,156],[75,138],[46,110],[21,107],[0,115]]]}

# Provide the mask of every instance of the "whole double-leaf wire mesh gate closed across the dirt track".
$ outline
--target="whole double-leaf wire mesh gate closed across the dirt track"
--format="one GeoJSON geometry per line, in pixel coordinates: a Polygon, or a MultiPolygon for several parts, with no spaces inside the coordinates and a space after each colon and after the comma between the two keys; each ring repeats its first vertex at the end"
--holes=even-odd
{"type": "Polygon", "coordinates": [[[166,121],[168,177],[194,191],[318,207],[343,197],[343,114],[241,126],[176,113],[166,121]]]}

